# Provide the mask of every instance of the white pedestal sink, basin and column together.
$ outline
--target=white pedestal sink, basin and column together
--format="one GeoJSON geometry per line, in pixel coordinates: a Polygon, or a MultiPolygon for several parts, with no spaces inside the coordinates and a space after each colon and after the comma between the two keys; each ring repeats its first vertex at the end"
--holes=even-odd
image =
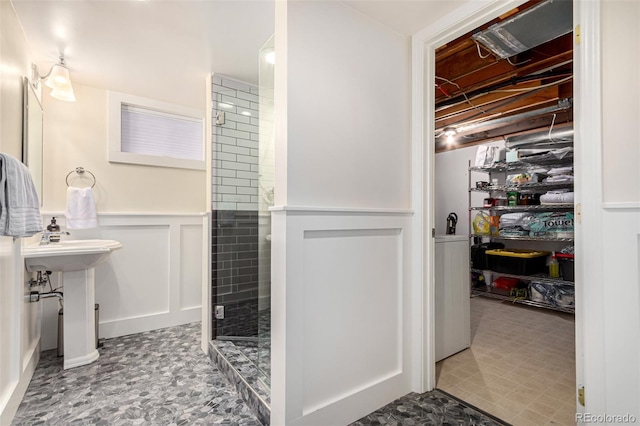
{"type": "Polygon", "coordinates": [[[64,368],[94,362],[95,269],[122,248],[115,240],[63,240],[22,248],[27,271],[62,272],[64,285],[64,368]]]}

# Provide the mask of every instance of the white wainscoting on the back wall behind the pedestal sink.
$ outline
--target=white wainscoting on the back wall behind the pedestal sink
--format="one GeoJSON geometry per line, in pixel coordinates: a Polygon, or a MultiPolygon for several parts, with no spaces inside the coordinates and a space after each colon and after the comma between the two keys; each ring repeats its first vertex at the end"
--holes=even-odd
{"type": "MultiPolygon", "coordinates": [[[[65,227],[61,213],[44,213],[65,227]]],[[[201,320],[202,215],[118,214],[98,216],[99,227],[68,230],[70,239],[118,240],[124,247],[96,266],[101,338],[123,336],[201,320]]],[[[52,275],[54,286],[60,280],[52,275]]],[[[45,300],[43,349],[57,346],[57,302],[45,300]]]]}

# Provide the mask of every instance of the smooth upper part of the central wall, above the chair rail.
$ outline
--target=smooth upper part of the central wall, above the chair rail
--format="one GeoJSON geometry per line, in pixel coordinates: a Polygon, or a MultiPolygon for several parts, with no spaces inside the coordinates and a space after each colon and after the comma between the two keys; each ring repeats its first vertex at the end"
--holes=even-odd
{"type": "Polygon", "coordinates": [[[287,204],[409,208],[407,38],[332,2],[289,14],[287,204]]]}

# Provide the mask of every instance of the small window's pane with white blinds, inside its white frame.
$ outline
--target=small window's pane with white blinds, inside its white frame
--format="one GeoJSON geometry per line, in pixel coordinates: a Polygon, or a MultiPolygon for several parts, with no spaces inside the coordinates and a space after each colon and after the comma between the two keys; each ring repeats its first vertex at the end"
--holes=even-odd
{"type": "Polygon", "coordinates": [[[131,105],[122,105],[123,152],[204,160],[202,122],[131,105]]]}

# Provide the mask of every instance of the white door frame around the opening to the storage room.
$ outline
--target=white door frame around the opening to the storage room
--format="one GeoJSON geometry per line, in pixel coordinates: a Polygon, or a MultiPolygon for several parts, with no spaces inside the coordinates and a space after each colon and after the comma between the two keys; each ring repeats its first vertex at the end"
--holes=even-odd
{"type": "MultiPolygon", "coordinates": [[[[417,32],[412,37],[412,208],[414,215],[414,239],[413,239],[413,282],[415,283],[416,303],[421,303],[420,313],[414,320],[419,321],[416,327],[417,345],[422,356],[414,364],[414,389],[419,392],[429,391],[435,388],[435,331],[434,331],[434,238],[432,229],[435,229],[435,138],[432,136],[435,130],[434,116],[435,106],[432,99],[435,97],[435,87],[424,84],[425,81],[435,80],[435,49],[442,44],[465,34],[479,25],[499,16],[508,10],[524,3],[525,0],[500,1],[470,1],[461,5],[458,9],[448,14],[431,26],[417,32]],[[418,336],[419,334],[419,336],[418,336]]],[[[582,285],[576,286],[576,387],[590,382],[592,387],[603,389],[604,375],[602,369],[595,368],[603,365],[604,355],[601,345],[603,334],[602,327],[597,324],[601,318],[598,315],[601,309],[597,309],[597,294],[589,285],[593,279],[586,274],[588,265],[583,265],[579,260],[582,252],[583,235],[595,235],[599,232],[598,223],[600,209],[598,200],[600,196],[583,199],[583,193],[587,195],[589,183],[600,185],[601,168],[594,173],[594,165],[599,164],[601,157],[601,127],[602,114],[600,108],[600,93],[594,88],[601,87],[600,75],[600,0],[580,2],[574,0],[574,28],[582,28],[581,44],[574,43],[574,97],[579,99],[579,105],[574,108],[574,130],[576,139],[580,145],[589,147],[575,149],[575,174],[576,174],[576,238],[575,246],[578,253],[576,261],[576,281],[582,285]],[[584,79],[584,80],[582,80],[584,79]],[[581,81],[584,81],[581,84],[581,81]],[[583,172],[590,170],[590,174],[583,172]],[[589,180],[588,182],[586,180],[589,180]],[[579,182],[584,181],[583,184],[579,182]],[[584,202],[584,201],[586,202],[584,202]],[[582,209],[582,211],[581,211],[582,209]],[[586,211],[588,209],[588,212],[586,211]],[[584,217],[589,214],[589,222],[581,223],[581,214],[584,217]],[[583,270],[584,268],[584,270],[583,270]],[[591,291],[591,290],[593,291],[591,291]],[[596,308],[596,309],[594,309],[596,308]],[[589,317],[584,315],[589,312],[589,317]],[[595,314],[595,315],[594,315],[595,314]],[[589,333],[586,330],[589,330],[589,333]],[[585,364],[584,353],[589,348],[589,353],[594,353],[590,363],[585,364]],[[586,365],[586,366],[585,366],[586,365]],[[597,371],[600,370],[600,371],[597,371]],[[588,374],[587,374],[588,372],[588,374]]],[[[574,40],[575,41],[575,40],[574,40]]],[[[593,186],[591,186],[593,188],[593,186]]],[[[598,248],[589,247],[590,251],[598,248]]],[[[593,272],[593,271],[591,271],[593,272]]],[[[594,277],[596,280],[597,277],[594,277]]],[[[595,389],[594,389],[595,390],[595,389]]],[[[598,392],[600,393],[600,392],[598,392]]],[[[591,396],[590,392],[590,396],[591,396]]],[[[593,395],[591,402],[599,405],[604,395],[593,395]]],[[[584,408],[577,407],[577,411],[584,408]]]]}

